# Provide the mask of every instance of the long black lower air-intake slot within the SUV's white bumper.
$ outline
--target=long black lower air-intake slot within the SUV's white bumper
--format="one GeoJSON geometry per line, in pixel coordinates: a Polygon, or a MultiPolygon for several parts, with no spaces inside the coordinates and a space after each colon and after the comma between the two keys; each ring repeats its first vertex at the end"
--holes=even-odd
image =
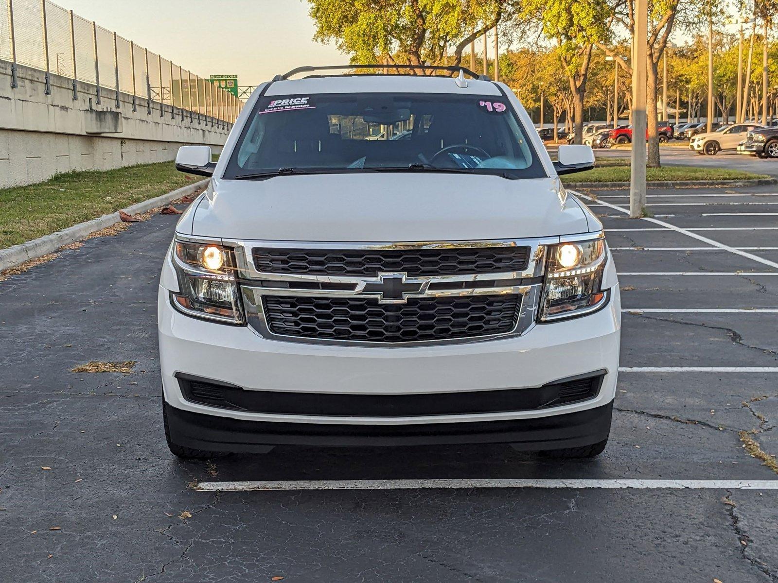
{"type": "Polygon", "coordinates": [[[413,417],[501,413],[577,403],[598,395],[604,375],[604,371],[592,372],[584,379],[562,379],[527,389],[398,395],[245,390],[186,375],[179,375],[178,381],[188,401],[224,409],[279,415],[413,417]],[[579,389],[571,390],[573,386],[579,389]],[[205,387],[209,390],[204,391],[205,387]]]}

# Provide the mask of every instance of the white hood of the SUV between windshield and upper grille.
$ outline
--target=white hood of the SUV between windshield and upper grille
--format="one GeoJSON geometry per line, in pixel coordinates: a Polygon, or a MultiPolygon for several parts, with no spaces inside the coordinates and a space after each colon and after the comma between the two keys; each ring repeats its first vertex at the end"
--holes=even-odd
{"type": "Polygon", "coordinates": [[[224,239],[401,243],[569,235],[588,224],[556,177],[360,173],[214,179],[178,229],[224,239]]]}

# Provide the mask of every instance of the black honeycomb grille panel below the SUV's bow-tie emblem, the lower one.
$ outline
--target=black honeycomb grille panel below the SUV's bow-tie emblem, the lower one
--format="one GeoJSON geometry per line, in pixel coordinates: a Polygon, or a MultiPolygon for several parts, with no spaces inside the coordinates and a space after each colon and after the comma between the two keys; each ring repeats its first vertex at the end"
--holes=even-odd
{"type": "Polygon", "coordinates": [[[272,333],[319,340],[418,342],[509,333],[516,326],[518,295],[414,298],[380,304],[363,298],[265,296],[272,333]]]}

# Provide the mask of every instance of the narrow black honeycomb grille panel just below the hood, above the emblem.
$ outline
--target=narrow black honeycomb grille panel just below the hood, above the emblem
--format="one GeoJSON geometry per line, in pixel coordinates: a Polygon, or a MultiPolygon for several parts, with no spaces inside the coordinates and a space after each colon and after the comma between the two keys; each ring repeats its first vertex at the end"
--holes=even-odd
{"type": "Polygon", "coordinates": [[[375,277],[495,274],[524,271],[530,247],[475,247],[408,250],[254,249],[258,271],[272,274],[375,277]]]}

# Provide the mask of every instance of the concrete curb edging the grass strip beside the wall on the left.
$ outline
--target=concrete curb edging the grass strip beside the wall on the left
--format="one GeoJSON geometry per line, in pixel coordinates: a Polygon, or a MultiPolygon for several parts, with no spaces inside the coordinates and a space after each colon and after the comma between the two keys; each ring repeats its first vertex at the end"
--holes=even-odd
{"type": "MultiPolygon", "coordinates": [[[[175,201],[177,198],[185,197],[187,194],[192,194],[196,190],[207,186],[209,180],[209,178],[206,178],[205,180],[200,180],[194,184],[188,184],[178,190],[173,190],[173,192],[151,198],[148,201],[138,202],[137,204],[133,204],[122,210],[128,215],[137,215],[138,213],[149,211],[152,208],[162,207],[169,204],[171,201],[175,201]]],[[[93,218],[91,221],[82,222],[78,225],[68,227],[67,229],[53,232],[51,235],[44,235],[38,239],[26,241],[25,243],[14,245],[8,249],[0,249],[0,272],[21,265],[30,259],[41,257],[46,253],[52,253],[63,245],[84,239],[93,232],[110,227],[110,225],[114,225],[120,221],[119,212],[116,211],[110,213],[110,215],[103,215],[102,217],[93,218]]]]}

